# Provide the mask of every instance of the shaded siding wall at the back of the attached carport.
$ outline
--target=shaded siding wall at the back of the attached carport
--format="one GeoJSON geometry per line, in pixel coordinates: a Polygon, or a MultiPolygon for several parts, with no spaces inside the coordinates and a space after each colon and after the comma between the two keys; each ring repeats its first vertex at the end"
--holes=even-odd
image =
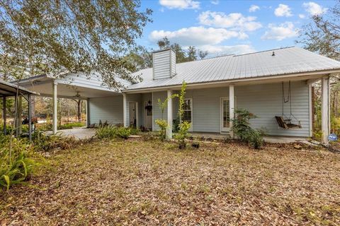
{"type": "Polygon", "coordinates": [[[123,124],[123,96],[98,97],[89,99],[90,123],[123,124]]]}

